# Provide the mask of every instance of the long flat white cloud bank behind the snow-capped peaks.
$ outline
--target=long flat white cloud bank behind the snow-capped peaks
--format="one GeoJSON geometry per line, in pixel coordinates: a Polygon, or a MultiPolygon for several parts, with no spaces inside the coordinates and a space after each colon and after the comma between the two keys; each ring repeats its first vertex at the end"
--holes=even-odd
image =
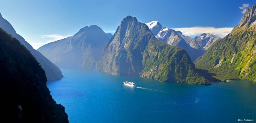
{"type": "Polygon", "coordinates": [[[199,36],[202,33],[211,33],[214,35],[217,35],[220,38],[225,37],[228,35],[233,27],[220,27],[220,28],[215,28],[215,27],[181,27],[181,28],[171,28],[176,31],[180,31],[183,33],[185,36],[199,36]]]}

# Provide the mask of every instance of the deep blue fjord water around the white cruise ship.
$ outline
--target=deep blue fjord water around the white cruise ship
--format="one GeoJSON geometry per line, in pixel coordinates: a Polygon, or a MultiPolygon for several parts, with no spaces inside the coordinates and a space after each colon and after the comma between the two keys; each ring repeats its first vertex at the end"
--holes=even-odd
{"type": "Polygon", "coordinates": [[[98,71],[62,69],[64,78],[47,86],[77,122],[238,122],[256,121],[256,83],[192,85],[98,71]],[[134,81],[137,88],[123,85],[134,81]]]}

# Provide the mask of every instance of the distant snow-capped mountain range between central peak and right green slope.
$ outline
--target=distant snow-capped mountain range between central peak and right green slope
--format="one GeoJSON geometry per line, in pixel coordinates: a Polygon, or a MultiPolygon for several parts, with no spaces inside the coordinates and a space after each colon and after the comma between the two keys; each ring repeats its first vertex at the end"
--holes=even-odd
{"type": "Polygon", "coordinates": [[[214,43],[214,41],[220,39],[216,35],[209,33],[203,33],[199,37],[191,38],[183,35],[180,31],[162,27],[158,21],[151,21],[146,24],[157,39],[171,46],[178,46],[185,49],[192,61],[204,54],[206,49],[214,43]]]}

